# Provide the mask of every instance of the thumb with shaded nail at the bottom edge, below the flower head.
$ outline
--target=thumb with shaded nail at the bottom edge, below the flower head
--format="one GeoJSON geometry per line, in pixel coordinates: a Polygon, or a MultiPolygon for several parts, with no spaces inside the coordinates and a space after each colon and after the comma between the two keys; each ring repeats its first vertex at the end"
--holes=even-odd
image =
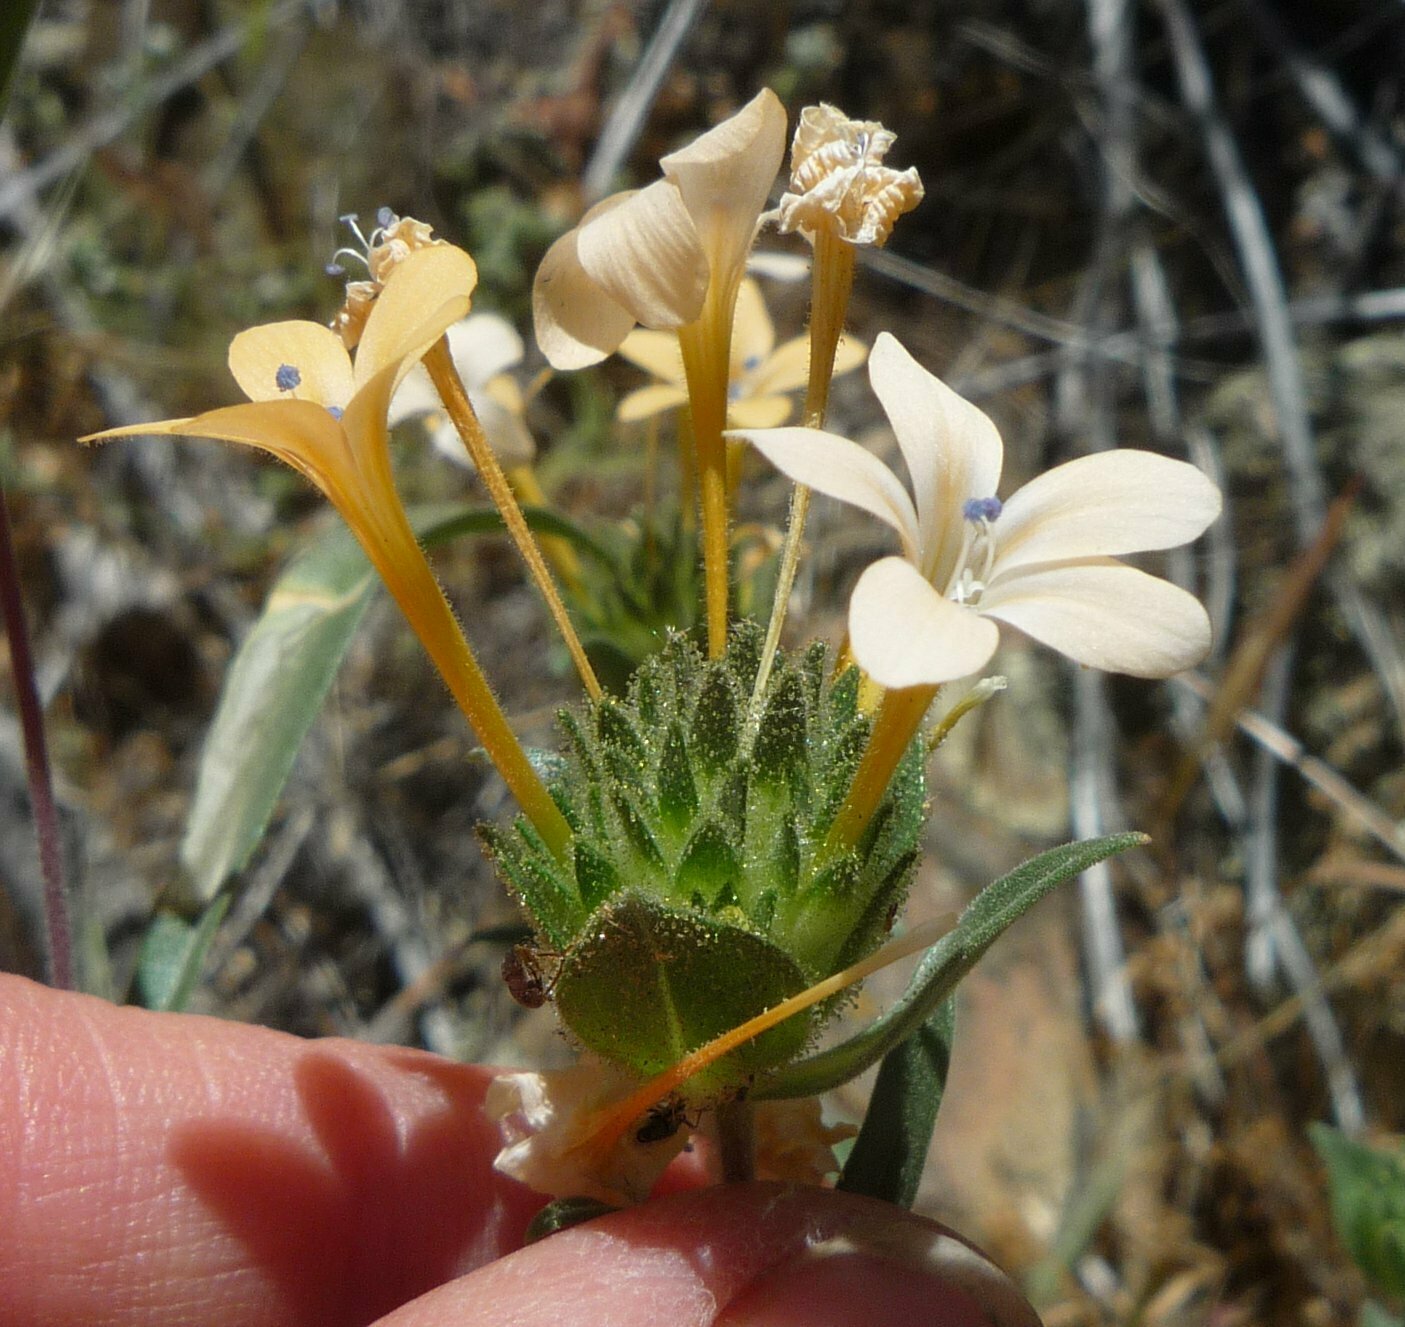
{"type": "Polygon", "coordinates": [[[1010,1279],[934,1222],[826,1189],[729,1185],[554,1234],[379,1327],[1038,1327],[1010,1279]]]}

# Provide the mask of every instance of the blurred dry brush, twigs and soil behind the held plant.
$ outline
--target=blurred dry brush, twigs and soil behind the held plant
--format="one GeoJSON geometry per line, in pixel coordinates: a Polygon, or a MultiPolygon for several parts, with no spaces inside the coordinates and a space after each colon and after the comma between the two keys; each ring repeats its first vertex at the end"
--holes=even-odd
{"type": "MultiPolygon", "coordinates": [[[[84,984],[128,998],[157,908],[183,905],[226,664],[325,512],[219,444],[73,439],[236,399],[235,332],[334,311],[341,214],[429,221],[473,253],[476,308],[528,333],[535,263],[592,195],[648,181],[766,83],[792,115],[884,121],[891,164],[922,171],[853,329],[895,332],[995,416],[1007,488],[1120,444],[1190,458],[1228,498],[1168,559],[1217,627],[1196,678],[1007,648],[1012,692],[936,762],[915,915],[1062,838],[1155,845],[1041,905],[968,983],[922,1210],[1023,1275],[1050,1324],[1356,1320],[1366,1282],[1305,1126],[1405,1130],[1402,70],[1397,0],[42,4],[0,127],[0,474],[84,984]]],[[[804,287],[769,295],[797,335],[804,287]]],[[[861,378],[832,425],[889,446],[861,378]]],[[[645,446],[613,423],[636,384],[607,365],[534,399],[563,512],[638,503],[645,446]]],[[[472,495],[403,441],[410,498],[472,495]]],[[[777,526],[783,489],[757,468],[743,506],[777,526]]],[[[792,631],[835,638],[884,536],[821,503],[809,545],[792,631]]],[[[468,540],[437,567],[549,742],[572,685],[514,558],[468,540]]],[[[0,967],[38,974],[10,683],[0,967]]],[[[506,813],[375,604],[192,1006],[559,1060],[497,978],[492,928],[516,918],[473,825],[506,813]]]]}

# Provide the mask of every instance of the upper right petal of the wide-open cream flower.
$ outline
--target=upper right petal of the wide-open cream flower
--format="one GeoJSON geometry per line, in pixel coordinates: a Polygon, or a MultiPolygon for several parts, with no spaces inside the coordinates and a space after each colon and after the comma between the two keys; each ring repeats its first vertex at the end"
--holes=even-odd
{"type": "Polygon", "coordinates": [[[1031,479],[1005,503],[996,567],[1175,548],[1220,506],[1220,489],[1194,465],[1154,451],[1099,451],[1031,479]]]}

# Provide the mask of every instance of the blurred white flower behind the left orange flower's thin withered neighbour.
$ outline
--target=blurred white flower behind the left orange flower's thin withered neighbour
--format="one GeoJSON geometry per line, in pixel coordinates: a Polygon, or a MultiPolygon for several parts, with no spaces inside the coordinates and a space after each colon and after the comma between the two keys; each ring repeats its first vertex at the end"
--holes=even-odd
{"type": "MultiPolygon", "coordinates": [[[[527,430],[525,402],[521,388],[506,373],[521,363],[525,350],[517,329],[497,313],[472,313],[454,323],[445,336],[454,368],[497,458],[507,468],[531,462],[537,444],[527,430]]],[[[423,419],[434,448],[454,464],[472,470],[464,440],[420,364],[410,370],[391,399],[392,427],[407,419],[423,419]]]]}

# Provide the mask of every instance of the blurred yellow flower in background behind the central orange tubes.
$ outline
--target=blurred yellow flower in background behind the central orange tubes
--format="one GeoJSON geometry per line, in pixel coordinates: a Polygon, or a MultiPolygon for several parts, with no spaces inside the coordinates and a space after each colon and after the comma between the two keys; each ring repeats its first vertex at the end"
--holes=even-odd
{"type": "MultiPolygon", "coordinates": [[[[622,423],[687,403],[683,356],[673,333],[635,328],[620,343],[620,354],[659,380],[629,392],[620,402],[622,423]]],[[[835,356],[835,373],[857,368],[867,354],[868,347],[863,342],[842,339],[835,356]]],[[[743,277],[732,323],[728,423],[738,429],[773,429],[785,423],[794,410],[794,402],[785,394],[804,387],[808,377],[809,337],[797,336],[777,346],[776,326],[766,311],[762,290],[750,277],[743,277]]]]}

